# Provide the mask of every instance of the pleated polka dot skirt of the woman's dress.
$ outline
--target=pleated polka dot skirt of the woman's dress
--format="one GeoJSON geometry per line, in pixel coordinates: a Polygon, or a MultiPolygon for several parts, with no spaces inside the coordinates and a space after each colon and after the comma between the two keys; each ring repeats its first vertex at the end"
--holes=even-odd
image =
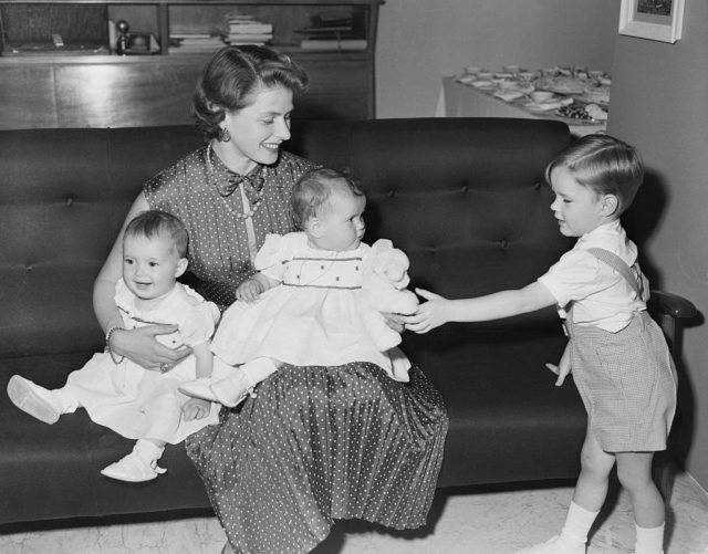
{"type": "Polygon", "coordinates": [[[284,366],[220,421],[187,439],[236,552],[300,554],[333,520],[425,524],[447,432],[423,373],[378,366],[284,366]]]}

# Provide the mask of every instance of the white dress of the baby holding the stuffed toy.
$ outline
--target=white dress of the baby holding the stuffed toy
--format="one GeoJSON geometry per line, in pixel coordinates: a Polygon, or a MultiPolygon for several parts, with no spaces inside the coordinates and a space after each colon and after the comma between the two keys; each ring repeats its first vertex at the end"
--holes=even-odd
{"type": "Polygon", "coordinates": [[[368,250],[364,243],[342,252],[316,250],[303,232],[267,236],[254,265],[281,284],[252,304],[233,303],[211,349],[232,366],[258,357],[295,366],[369,362],[407,381],[406,356],[396,347],[377,349],[364,325],[360,294],[368,250]]]}

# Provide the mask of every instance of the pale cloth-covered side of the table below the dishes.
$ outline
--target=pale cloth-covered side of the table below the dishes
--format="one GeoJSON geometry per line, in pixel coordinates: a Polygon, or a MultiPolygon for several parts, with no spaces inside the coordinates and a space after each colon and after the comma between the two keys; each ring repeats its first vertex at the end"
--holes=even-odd
{"type": "Polygon", "coordinates": [[[561,121],[575,136],[605,133],[606,122],[581,122],[553,115],[552,112],[530,112],[520,103],[504,102],[493,91],[476,88],[456,77],[444,77],[435,115],[437,117],[521,117],[524,119],[561,121]]]}

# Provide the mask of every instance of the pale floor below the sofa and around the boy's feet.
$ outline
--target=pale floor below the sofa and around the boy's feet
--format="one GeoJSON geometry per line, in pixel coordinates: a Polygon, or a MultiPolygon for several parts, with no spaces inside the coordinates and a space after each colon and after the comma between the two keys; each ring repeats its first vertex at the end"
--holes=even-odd
{"type": "MultiPolygon", "coordinates": [[[[671,483],[666,554],[708,554],[708,493],[686,473],[671,483]]],[[[631,554],[634,524],[626,493],[616,490],[601,513],[589,554],[631,554]]],[[[506,554],[542,542],[563,523],[572,488],[439,490],[429,524],[387,532],[341,522],[312,554],[506,554]]],[[[218,554],[223,533],[214,518],[0,533],[2,554],[218,554]]],[[[278,554],[278,553],[273,553],[278,554]]]]}

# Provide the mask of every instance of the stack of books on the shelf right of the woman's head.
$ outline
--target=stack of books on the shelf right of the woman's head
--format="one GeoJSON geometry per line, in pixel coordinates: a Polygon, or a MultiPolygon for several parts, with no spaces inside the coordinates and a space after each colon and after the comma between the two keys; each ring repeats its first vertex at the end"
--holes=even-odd
{"type": "Polygon", "coordinates": [[[310,27],[299,29],[303,50],[366,50],[364,24],[347,8],[331,9],[314,15],[310,27]]]}

